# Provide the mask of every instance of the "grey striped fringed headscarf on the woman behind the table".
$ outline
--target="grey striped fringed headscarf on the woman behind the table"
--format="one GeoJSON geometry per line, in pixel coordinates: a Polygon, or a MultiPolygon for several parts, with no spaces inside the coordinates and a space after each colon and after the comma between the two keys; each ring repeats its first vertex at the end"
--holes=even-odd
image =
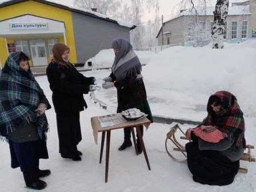
{"type": "Polygon", "coordinates": [[[112,73],[118,80],[122,80],[127,74],[141,74],[141,63],[130,42],[117,38],[112,42],[112,48],[119,49],[112,66],[112,73]]]}

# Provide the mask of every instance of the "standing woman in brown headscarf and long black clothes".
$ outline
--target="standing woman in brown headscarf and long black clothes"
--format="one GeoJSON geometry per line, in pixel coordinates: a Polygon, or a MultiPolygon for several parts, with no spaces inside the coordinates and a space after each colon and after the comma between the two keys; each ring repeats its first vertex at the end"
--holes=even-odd
{"type": "Polygon", "coordinates": [[[90,91],[94,77],[84,77],[69,62],[69,47],[62,43],[53,46],[53,60],[46,73],[53,91],[53,105],[57,115],[59,153],[63,158],[81,161],[77,145],[82,140],[79,112],[87,108],[83,94],[90,91]]]}

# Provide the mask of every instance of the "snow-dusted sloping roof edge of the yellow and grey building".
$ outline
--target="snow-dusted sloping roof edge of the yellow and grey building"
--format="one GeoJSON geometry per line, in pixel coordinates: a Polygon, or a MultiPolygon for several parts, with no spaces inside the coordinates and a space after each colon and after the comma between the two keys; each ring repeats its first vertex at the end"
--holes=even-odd
{"type": "MultiPolygon", "coordinates": [[[[30,1],[30,0],[10,0],[10,1],[3,0],[3,1],[0,1],[0,8],[10,6],[10,5],[14,5],[16,3],[25,2],[25,1],[30,1]]],[[[86,10],[86,9],[79,9],[77,7],[67,6],[67,5],[63,5],[63,4],[60,4],[60,3],[55,3],[52,0],[50,0],[50,1],[49,0],[48,1],[32,0],[32,1],[37,1],[37,2],[40,2],[40,3],[44,3],[46,5],[59,7],[61,9],[65,9],[65,10],[70,10],[70,11],[73,11],[73,12],[76,12],[76,13],[87,15],[89,17],[102,19],[102,20],[107,21],[107,22],[116,23],[120,26],[128,27],[130,30],[135,29],[135,27],[136,27],[136,25],[134,25],[133,23],[122,21],[122,20],[115,19],[115,18],[112,18],[112,17],[108,17],[107,15],[103,15],[101,13],[97,13],[97,12],[94,12],[94,11],[90,11],[90,10],[86,10]]]]}

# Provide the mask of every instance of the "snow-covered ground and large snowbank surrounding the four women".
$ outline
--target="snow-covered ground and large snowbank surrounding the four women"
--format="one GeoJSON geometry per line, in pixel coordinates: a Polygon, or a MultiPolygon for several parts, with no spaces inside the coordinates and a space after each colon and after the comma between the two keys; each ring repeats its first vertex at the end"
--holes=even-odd
{"type": "MultiPolygon", "coordinates": [[[[154,55],[148,65],[143,67],[153,114],[201,121],[206,115],[206,102],[210,94],[222,89],[229,90],[237,95],[245,112],[247,141],[256,146],[255,47],[255,41],[248,41],[246,45],[226,45],[224,50],[171,47],[154,55]]],[[[109,70],[103,70],[84,74],[97,77],[97,82],[101,83],[102,78],[109,73],[109,70]]],[[[37,77],[37,80],[51,100],[47,78],[37,77]]],[[[60,157],[54,109],[47,111],[50,159],[42,160],[41,168],[51,169],[52,174],[43,179],[48,183],[43,191],[256,191],[256,163],[241,162],[241,166],[247,167],[249,173],[238,174],[229,186],[207,186],[193,182],[187,165],[174,162],[166,154],[165,137],[171,126],[159,123],[153,123],[144,137],[151,171],[147,169],[143,155],[135,155],[133,147],[122,152],[117,150],[123,141],[123,131],[113,131],[109,182],[105,183],[105,152],[100,165],[100,146],[94,143],[90,118],[113,113],[117,98],[115,89],[99,90],[95,95],[110,107],[103,110],[85,95],[89,108],[81,113],[83,140],[78,146],[84,154],[82,162],[60,157]]],[[[182,125],[184,130],[188,127],[191,126],[182,125]]],[[[0,151],[0,191],[27,191],[23,188],[23,177],[19,169],[10,168],[7,143],[0,142],[0,151]]],[[[256,154],[255,150],[253,154],[256,154]]]]}

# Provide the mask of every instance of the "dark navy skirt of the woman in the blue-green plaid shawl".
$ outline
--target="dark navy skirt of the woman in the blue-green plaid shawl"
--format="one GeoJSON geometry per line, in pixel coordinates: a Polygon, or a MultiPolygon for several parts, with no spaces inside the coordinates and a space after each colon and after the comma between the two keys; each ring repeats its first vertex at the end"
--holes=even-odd
{"type": "Polygon", "coordinates": [[[22,172],[33,170],[39,159],[48,159],[46,141],[13,142],[9,140],[11,167],[20,167],[22,172]]]}

